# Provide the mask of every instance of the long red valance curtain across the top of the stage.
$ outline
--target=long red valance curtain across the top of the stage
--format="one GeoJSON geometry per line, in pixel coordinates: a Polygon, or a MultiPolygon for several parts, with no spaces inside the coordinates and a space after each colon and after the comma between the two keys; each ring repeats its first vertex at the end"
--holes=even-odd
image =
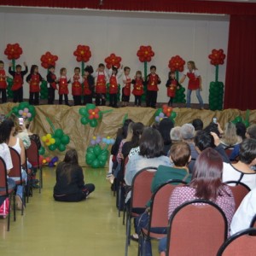
{"type": "Polygon", "coordinates": [[[0,0],[0,5],[77,9],[112,9],[156,12],[183,12],[226,15],[256,15],[256,3],[198,0],[0,0]]]}

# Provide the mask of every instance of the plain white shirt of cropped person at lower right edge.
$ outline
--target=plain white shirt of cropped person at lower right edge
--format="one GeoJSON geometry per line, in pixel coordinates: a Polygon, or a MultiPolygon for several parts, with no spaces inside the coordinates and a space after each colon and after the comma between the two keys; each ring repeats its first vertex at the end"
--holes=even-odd
{"type": "Polygon", "coordinates": [[[230,225],[231,235],[249,228],[251,221],[256,214],[256,189],[251,190],[241,201],[240,207],[236,210],[230,225]]]}

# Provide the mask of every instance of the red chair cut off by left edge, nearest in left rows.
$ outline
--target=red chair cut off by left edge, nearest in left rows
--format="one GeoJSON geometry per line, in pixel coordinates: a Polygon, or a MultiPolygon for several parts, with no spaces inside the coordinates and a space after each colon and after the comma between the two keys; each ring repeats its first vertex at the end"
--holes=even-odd
{"type": "Polygon", "coordinates": [[[8,188],[8,181],[7,181],[7,170],[6,165],[2,157],[0,157],[0,195],[6,196],[9,198],[9,215],[8,215],[8,225],[7,231],[9,231],[9,224],[10,224],[10,215],[11,215],[11,201],[14,201],[14,220],[16,220],[16,211],[15,211],[15,189],[8,188]]]}

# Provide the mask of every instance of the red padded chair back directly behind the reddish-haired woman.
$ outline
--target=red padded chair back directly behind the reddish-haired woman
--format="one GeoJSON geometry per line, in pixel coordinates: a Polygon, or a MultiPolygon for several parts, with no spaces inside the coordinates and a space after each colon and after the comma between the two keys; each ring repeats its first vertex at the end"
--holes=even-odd
{"type": "Polygon", "coordinates": [[[224,212],[212,201],[193,200],[170,217],[166,255],[215,256],[228,234],[224,212]]]}

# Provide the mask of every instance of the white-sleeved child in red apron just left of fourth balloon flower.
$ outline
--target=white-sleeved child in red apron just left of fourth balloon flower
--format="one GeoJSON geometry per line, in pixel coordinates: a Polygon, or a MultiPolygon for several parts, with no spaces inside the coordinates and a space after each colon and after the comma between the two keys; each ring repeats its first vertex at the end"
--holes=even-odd
{"type": "Polygon", "coordinates": [[[105,106],[108,81],[108,73],[105,71],[105,65],[102,63],[99,64],[93,76],[96,79],[96,106],[105,106]]]}

